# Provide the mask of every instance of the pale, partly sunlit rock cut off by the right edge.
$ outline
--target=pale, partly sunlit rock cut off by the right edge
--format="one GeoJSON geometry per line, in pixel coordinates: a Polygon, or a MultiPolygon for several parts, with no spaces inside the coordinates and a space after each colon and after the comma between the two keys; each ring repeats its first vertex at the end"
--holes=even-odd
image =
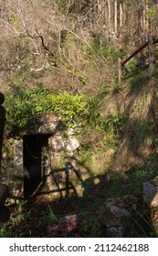
{"type": "Polygon", "coordinates": [[[158,176],[142,184],[142,194],[144,202],[150,207],[158,206],[158,176]]]}

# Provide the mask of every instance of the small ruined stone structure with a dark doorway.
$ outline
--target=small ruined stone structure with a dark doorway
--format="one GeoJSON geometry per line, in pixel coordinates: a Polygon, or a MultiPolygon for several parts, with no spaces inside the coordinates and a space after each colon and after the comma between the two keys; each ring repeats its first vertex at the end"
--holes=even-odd
{"type": "MultiPolygon", "coordinates": [[[[79,148],[72,128],[64,133],[61,118],[54,114],[34,117],[23,136],[14,142],[13,175],[9,178],[11,194],[29,197],[40,193],[66,191],[72,170],[65,161],[79,148]]],[[[59,195],[60,195],[59,194],[59,195]]]]}

